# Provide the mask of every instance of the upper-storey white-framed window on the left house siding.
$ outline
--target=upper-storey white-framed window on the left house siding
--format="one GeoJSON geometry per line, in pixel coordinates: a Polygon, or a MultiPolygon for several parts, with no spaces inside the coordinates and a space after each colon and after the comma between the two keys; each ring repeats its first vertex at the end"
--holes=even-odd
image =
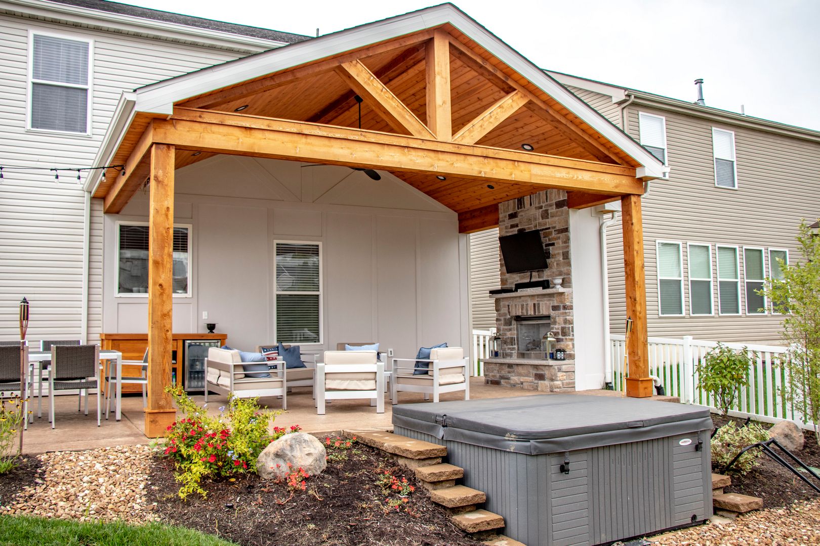
{"type": "Polygon", "coordinates": [[[91,42],[31,34],[29,128],[89,133],[91,42]]]}

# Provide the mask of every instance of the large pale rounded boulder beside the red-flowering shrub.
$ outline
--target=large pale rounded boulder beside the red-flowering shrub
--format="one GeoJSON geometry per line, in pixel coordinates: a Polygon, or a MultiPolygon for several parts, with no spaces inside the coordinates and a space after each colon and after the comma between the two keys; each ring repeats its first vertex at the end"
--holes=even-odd
{"type": "Polygon", "coordinates": [[[266,480],[285,479],[288,472],[302,468],[310,476],[327,467],[325,446],[305,432],[286,434],[271,442],[257,458],[257,472],[266,480]],[[290,463],[290,467],[288,466],[290,463]]]}

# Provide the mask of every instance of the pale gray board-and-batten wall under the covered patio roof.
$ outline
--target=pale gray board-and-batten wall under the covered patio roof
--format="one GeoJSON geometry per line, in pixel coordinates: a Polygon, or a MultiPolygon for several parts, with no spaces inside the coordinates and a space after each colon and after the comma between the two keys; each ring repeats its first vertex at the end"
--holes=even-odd
{"type": "MultiPolygon", "coordinates": [[[[147,297],[117,296],[115,279],[116,223],[147,214],[138,193],[105,216],[105,332],[147,331],[147,297]]],[[[176,171],[175,223],[192,226],[192,296],[174,297],[176,332],[213,322],[242,350],[277,341],[274,242],[321,241],[323,342],[312,349],[469,346],[467,236],[452,210],[390,174],[216,156],[176,171]]]]}

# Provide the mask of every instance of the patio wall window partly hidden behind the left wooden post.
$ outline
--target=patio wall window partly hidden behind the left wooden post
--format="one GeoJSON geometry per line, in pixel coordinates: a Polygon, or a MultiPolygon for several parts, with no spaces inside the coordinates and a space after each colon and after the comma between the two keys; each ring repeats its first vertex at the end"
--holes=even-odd
{"type": "MultiPolygon", "coordinates": [[[[190,296],[190,226],[174,227],[172,288],[174,296],[190,296]]],[[[117,224],[117,295],[148,295],[148,225],[117,224]]]]}

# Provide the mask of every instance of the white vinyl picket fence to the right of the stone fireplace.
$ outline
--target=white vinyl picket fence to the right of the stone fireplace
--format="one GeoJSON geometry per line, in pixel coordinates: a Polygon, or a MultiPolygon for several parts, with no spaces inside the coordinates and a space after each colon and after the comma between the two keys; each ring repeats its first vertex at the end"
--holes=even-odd
{"type": "MultiPolygon", "coordinates": [[[[609,336],[612,351],[613,385],[615,390],[623,388],[624,336],[609,336]]],[[[749,345],[724,343],[731,349],[749,352],[752,365],[749,367],[749,386],[740,390],[740,396],[729,413],[736,417],[752,417],[763,422],[778,422],[783,419],[803,424],[806,422],[801,408],[792,408],[783,398],[783,387],[788,386],[786,368],[781,363],[786,359],[786,347],[777,345],[749,345]]],[[[715,408],[709,395],[699,388],[695,367],[697,363],[717,346],[717,341],[702,341],[684,336],[683,339],[663,337],[649,338],[649,375],[660,378],[667,395],[678,396],[681,403],[700,404],[715,408]]]]}

